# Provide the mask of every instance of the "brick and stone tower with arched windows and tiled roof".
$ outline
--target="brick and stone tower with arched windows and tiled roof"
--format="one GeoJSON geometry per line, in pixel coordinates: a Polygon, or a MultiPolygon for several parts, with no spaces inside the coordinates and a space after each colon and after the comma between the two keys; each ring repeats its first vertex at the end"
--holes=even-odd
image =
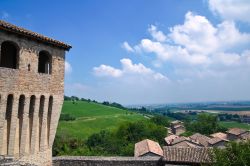
{"type": "Polygon", "coordinates": [[[51,165],[70,48],[0,20],[0,164],[51,165]]]}

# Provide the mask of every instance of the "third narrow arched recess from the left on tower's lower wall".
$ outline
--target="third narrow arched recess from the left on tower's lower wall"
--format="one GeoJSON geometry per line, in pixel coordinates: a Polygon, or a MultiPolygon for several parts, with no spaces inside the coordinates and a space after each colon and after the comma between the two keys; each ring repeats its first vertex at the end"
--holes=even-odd
{"type": "Polygon", "coordinates": [[[30,106],[29,106],[29,149],[31,150],[31,140],[33,133],[33,119],[35,112],[35,104],[36,104],[36,96],[32,95],[30,98],[30,106]]]}

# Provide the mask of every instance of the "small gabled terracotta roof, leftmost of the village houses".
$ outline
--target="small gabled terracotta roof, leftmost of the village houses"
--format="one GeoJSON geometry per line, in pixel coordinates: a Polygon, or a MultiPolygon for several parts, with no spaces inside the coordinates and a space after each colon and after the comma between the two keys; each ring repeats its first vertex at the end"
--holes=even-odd
{"type": "Polygon", "coordinates": [[[134,152],[135,157],[140,157],[149,152],[154,153],[159,156],[163,156],[163,151],[159,143],[155,141],[145,139],[135,144],[135,152],[134,152]]]}

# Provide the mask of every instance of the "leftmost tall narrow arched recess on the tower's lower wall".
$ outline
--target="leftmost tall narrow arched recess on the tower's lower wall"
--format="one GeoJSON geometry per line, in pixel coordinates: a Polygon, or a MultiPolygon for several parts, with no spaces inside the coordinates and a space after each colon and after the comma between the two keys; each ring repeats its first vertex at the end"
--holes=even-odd
{"type": "Polygon", "coordinates": [[[6,105],[6,113],[5,113],[5,120],[7,122],[7,154],[9,154],[9,144],[10,144],[10,124],[11,124],[11,115],[12,115],[12,107],[13,107],[13,95],[8,95],[7,98],[7,105],[6,105]]]}

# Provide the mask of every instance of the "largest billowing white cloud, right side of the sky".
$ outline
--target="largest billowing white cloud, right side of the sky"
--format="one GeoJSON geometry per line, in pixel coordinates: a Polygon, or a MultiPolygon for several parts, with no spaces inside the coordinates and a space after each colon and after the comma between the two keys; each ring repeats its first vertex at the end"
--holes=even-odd
{"type": "MultiPolygon", "coordinates": [[[[155,26],[151,29],[157,30],[155,26]]],[[[166,61],[189,67],[228,66],[241,62],[241,53],[250,44],[250,34],[241,33],[233,21],[214,26],[206,17],[192,12],[187,12],[183,24],[170,28],[167,36],[168,40],[162,42],[142,39],[137,50],[154,53],[157,66],[166,61]]]]}

